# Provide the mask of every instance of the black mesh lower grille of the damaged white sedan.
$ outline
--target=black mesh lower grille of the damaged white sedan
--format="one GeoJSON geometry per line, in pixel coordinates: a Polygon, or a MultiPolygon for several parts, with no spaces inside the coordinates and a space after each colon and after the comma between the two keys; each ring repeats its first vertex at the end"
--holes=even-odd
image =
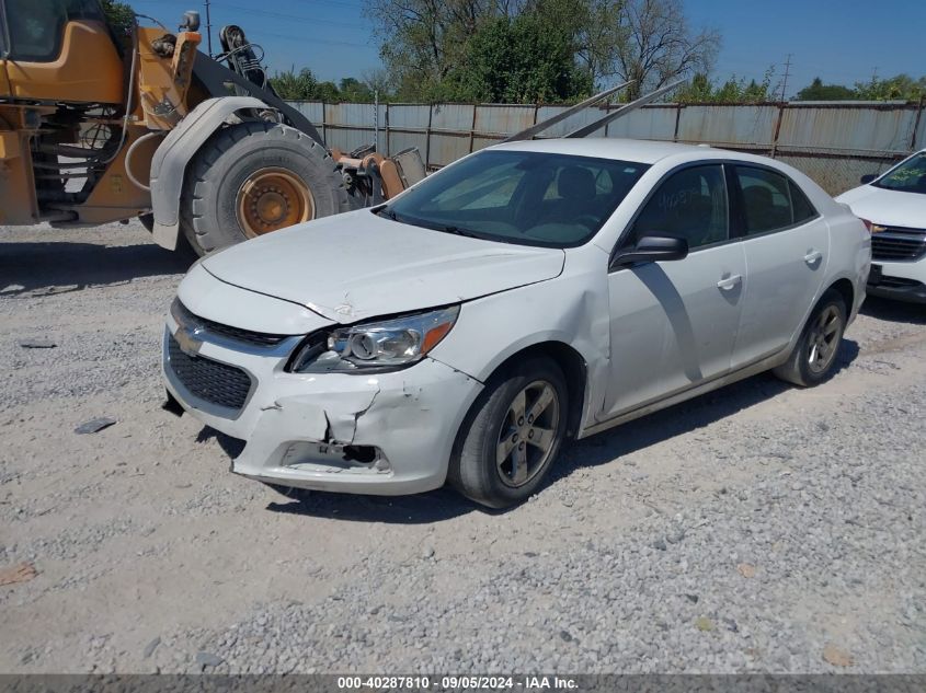
{"type": "Polygon", "coordinates": [[[168,337],[168,363],[192,395],[236,412],[251,392],[251,377],[240,368],[202,356],[190,356],[173,335],[168,337]]]}

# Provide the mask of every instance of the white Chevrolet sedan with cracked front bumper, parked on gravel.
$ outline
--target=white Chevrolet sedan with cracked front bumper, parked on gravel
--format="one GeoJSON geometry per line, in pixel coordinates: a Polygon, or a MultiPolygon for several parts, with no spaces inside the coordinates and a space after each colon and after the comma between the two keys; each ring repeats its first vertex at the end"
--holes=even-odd
{"type": "Polygon", "coordinates": [[[449,482],[506,507],[567,439],[768,369],[824,381],[870,243],[761,157],[501,145],[196,264],[167,321],[169,404],[247,441],[233,471],[276,486],[449,482]]]}

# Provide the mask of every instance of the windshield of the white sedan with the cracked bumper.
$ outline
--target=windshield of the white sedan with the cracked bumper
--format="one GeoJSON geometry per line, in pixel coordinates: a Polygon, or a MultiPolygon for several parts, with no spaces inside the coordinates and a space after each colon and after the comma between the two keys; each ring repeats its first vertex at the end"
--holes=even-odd
{"type": "Polygon", "coordinates": [[[484,151],[425,178],[377,213],[447,233],[570,247],[602,228],[647,169],[613,159],[484,151]]]}

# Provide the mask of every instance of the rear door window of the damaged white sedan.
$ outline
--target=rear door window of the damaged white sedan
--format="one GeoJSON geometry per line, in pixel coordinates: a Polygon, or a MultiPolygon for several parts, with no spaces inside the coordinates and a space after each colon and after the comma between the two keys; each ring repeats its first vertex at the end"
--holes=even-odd
{"type": "Polygon", "coordinates": [[[735,170],[746,235],[788,229],[816,216],[803,192],[786,175],[767,169],[735,170]]]}

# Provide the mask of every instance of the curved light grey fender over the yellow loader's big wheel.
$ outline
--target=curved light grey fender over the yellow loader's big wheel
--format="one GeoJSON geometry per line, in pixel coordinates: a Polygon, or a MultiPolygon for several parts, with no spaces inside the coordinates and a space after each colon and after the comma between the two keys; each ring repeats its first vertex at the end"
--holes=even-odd
{"type": "Polygon", "coordinates": [[[170,131],[151,158],[151,209],[155,212],[155,243],[176,249],[180,233],[180,197],[190,160],[207,139],[236,112],[265,111],[267,105],[252,96],[218,96],[197,105],[170,131]]]}

